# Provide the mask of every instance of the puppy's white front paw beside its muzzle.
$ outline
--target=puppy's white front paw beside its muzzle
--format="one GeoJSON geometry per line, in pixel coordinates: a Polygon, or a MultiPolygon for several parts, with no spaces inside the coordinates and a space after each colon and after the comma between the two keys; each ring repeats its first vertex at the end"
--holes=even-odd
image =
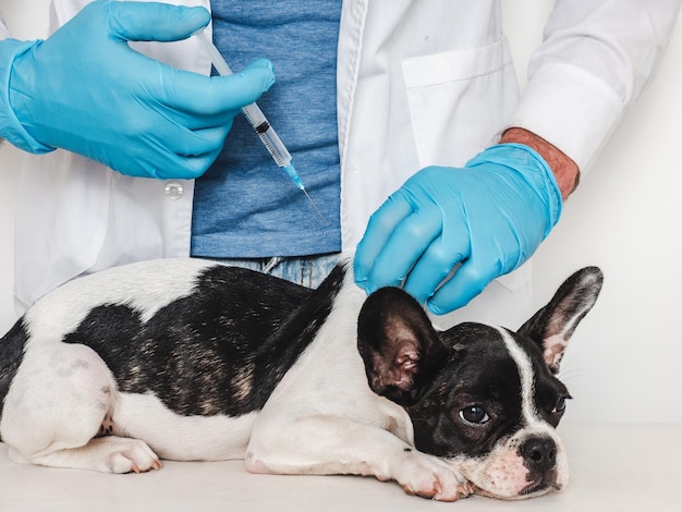
{"type": "Polygon", "coordinates": [[[456,501],[473,492],[472,484],[456,468],[414,449],[404,452],[393,478],[406,493],[439,501],[456,501]]]}

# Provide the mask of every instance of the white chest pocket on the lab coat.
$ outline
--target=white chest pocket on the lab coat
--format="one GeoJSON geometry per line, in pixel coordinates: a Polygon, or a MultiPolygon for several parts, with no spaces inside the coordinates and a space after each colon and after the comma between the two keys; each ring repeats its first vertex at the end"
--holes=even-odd
{"type": "Polygon", "coordinates": [[[462,166],[494,142],[519,100],[506,39],[402,62],[419,164],[462,166]]]}

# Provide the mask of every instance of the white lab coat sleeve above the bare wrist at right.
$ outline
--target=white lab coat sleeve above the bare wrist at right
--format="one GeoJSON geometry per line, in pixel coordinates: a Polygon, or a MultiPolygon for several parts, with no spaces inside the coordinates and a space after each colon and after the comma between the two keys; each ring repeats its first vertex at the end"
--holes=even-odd
{"type": "Polygon", "coordinates": [[[510,122],[584,173],[661,61],[680,0],[558,0],[510,122]]]}

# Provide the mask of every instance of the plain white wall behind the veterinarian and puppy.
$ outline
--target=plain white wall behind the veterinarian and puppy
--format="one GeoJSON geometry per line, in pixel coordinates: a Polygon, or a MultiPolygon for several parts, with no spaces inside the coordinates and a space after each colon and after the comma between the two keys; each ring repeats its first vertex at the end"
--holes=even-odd
{"type": "MultiPolygon", "coordinates": [[[[48,0],[0,0],[17,37],[45,34],[48,0]],[[36,13],[39,13],[37,15],[36,13]]],[[[551,2],[503,0],[520,80],[551,2]]],[[[539,307],[571,272],[598,265],[601,297],[562,377],[572,419],[682,423],[682,24],[655,84],[628,113],[535,258],[539,307]]],[[[0,331],[12,309],[13,208],[22,155],[0,149],[0,331]]]]}

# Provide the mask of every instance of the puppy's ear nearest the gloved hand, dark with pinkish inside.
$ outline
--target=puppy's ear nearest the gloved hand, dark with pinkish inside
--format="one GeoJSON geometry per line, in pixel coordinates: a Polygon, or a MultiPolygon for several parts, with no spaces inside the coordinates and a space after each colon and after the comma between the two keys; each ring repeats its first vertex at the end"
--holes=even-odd
{"type": "Polygon", "coordinates": [[[382,288],[365,301],[357,349],[372,390],[405,406],[419,400],[450,353],[424,309],[398,288],[382,288]]]}

